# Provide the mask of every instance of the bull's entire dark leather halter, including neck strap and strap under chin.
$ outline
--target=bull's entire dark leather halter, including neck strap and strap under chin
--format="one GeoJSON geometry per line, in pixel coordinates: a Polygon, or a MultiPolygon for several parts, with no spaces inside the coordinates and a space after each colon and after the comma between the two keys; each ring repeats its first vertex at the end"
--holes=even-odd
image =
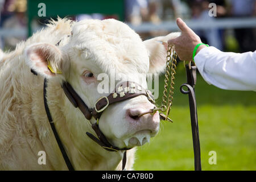
{"type": "MultiPolygon", "coordinates": [[[[38,73],[36,73],[33,69],[31,69],[31,72],[36,76],[38,75],[38,73]]],[[[102,148],[104,148],[107,151],[111,151],[111,152],[118,151],[118,150],[124,151],[123,159],[122,159],[122,170],[124,170],[126,165],[126,150],[130,150],[131,148],[118,148],[110,144],[108,139],[106,139],[105,135],[101,132],[100,128],[98,127],[98,119],[100,119],[102,112],[110,104],[114,104],[116,102],[124,101],[137,96],[144,95],[148,98],[150,102],[154,104],[155,103],[154,96],[152,96],[152,93],[150,92],[150,90],[144,89],[141,85],[135,82],[129,82],[129,81],[122,82],[114,89],[114,91],[111,94],[109,94],[108,97],[106,96],[100,97],[96,101],[94,107],[89,109],[89,107],[84,103],[84,101],[82,101],[79,94],[77,94],[75,90],[72,88],[71,84],[69,84],[68,82],[63,82],[61,87],[63,88],[63,91],[65,95],[68,97],[69,101],[73,104],[74,107],[78,107],[81,110],[82,114],[84,114],[86,119],[90,120],[92,119],[92,117],[94,117],[97,120],[96,123],[92,124],[92,129],[95,131],[98,138],[94,137],[94,135],[89,132],[86,132],[86,135],[88,135],[90,139],[92,139],[94,142],[99,144],[102,148]]],[[[47,79],[44,78],[43,96],[44,96],[44,108],[46,110],[47,118],[51,125],[56,142],[60,148],[61,154],[63,155],[65,163],[67,164],[69,171],[73,171],[74,168],[72,166],[71,161],[68,158],[67,152],[64,149],[63,143],[61,142],[60,137],[57,134],[57,130],[55,128],[51,113],[49,111],[49,107],[47,104],[46,88],[47,88],[47,79]]]]}

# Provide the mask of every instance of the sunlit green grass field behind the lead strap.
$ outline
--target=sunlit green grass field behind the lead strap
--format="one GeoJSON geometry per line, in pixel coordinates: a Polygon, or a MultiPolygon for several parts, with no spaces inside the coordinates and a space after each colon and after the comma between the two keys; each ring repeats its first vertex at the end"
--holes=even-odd
{"type": "MultiPolygon", "coordinates": [[[[160,123],[158,135],[138,147],[135,170],[194,169],[188,96],[179,91],[185,81],[179,64],[170,114],[174,123],[160,123]]],[[[162,93],[163,77],[159,82],[162,93]]],[[[197,74],[196,100],[202,169],[256,170],[256,93],[221,90],[197,74]],[[217,164],[209,164],[209,151],[216,151],[217,164]]]]}

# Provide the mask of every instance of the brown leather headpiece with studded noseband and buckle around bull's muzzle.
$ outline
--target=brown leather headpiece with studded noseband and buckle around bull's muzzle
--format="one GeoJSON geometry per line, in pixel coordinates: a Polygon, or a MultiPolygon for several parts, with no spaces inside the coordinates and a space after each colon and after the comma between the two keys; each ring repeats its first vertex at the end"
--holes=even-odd
{"type": "Polygon", "coordinates": [[[111,104],[142,95],[146,96],[150,102],[155,103],[154,97],[152,96],[150,90],[144,89],[141,85],[131,81],[122,82],[121,84],[116,86],[113,92],[109,94],[108,97],[100,97],[94,104],[94,107],[91,109],[89,109],[84,101],[82,101],[81,97],[75,92],[75,90],[68,82],[64,82],[62,88],[69,101],[71,101],[73,106],[80,109],[86,119],[90,120],[92,119],[92,117],[96,119],[96,123],[92,124],[92,129],[97,134],[98,139],[89,132],[86,132],[86,134],[88,135],[88,137],[90,137],[90,139],[94,140],[94,142],[98,143],[101,147],[108,151],[129,150],[130,148],[115,147],[110,144],[108,139],[106,139],[105,135],[98,127],[98,121],[103,111],[111,104]]]}

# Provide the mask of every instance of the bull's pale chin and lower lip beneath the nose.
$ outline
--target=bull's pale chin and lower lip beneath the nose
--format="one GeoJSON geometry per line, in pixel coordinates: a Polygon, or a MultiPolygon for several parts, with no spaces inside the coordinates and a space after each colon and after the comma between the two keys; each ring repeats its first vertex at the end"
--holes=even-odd
{"type": "Polygon", "coordinates": [[[141,130],[123,140],[125,147],[133,148],[135,146],[142,146],[143,144],[150,142],[150,130],[141,130]]]}

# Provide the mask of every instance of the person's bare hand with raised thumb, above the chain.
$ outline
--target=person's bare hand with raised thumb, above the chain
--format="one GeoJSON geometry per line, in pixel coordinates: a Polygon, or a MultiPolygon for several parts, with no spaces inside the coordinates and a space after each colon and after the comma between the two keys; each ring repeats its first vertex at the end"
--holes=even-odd
{"type": "MultiPolygon", "coordinates": [[[[193,30],[191,30],[191,28],[187,26],[187,24],[185,24],[185,22],[183,22],[181,18],[177,18],[176,22],[177,26],[181,30],[181,35],[175,39],[168,40],[168,44],[174,46],[180,60],[192,61],[193,50],[197,44],[202,43],[201,39],[195,34],[195,32],[193,32],[193,30]]],[[[199,46],[196,53],[204,47],[207,46],[199,46]]]]}

